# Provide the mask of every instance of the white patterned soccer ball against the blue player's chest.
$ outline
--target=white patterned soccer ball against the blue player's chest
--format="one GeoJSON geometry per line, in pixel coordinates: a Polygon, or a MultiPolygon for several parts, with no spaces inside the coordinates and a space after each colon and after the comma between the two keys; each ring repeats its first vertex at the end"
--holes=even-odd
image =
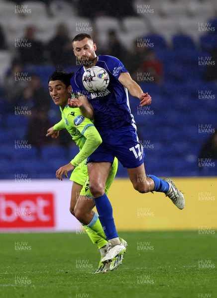
{"type": "Polygon", "coordinates": [[[90,92],[101,92],[108,87],[109,75],[99,66],[89,68],[82,77],[83,85],[90,92]]]}

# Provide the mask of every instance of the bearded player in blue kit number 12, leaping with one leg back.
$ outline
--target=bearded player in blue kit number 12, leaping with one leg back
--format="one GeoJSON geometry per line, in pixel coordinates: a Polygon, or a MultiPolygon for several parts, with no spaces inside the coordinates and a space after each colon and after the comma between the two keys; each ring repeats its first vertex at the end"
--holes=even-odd
{"type": "Polygon", "coordinates": [[[142,91],[117,58],[97,56],[97,45],[89,34],[76,35],[72,46],[81,67],[71,79],[74,98],[68,103],[71,107],[80,107],[85,117],[95,119],[95,126],[103,140],[88,158],[88,173],[90,190],[109,242],[107,255],[102,260],[107,262],[125,249],[117,235],[112,207],[105,193],[114,156],[127,168],[129,179],[138,192],[163,192],[179,209],[185,207],[185,199],[170,178],[160,179],[145,174],[144,153],[130,111],[128,92],[140,100],[140,106],[151,103],[150,95],[142,91]],[[109,74],[109,84],[103,92],[89,92],[83,85],[82,76],[92,66],[102,67],[109,74]]]}

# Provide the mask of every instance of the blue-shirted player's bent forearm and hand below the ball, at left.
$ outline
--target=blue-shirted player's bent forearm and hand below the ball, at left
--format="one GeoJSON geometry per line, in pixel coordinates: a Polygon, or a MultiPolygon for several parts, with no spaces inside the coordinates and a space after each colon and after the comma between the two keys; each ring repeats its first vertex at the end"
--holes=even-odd
{"type": "Polygon", "coordinates": [[[69,98],[68,105],[71,108],[80,108],[83,116],[91,120],[94,119],[94,109],[85,95],[81,94],[77,97],[69,98]]]}

